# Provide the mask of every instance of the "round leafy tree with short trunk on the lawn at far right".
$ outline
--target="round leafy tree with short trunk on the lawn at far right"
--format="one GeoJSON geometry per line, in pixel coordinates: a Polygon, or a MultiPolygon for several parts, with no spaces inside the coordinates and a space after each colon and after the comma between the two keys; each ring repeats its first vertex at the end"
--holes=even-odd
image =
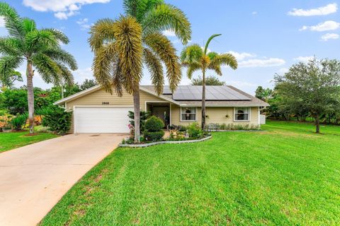
{"type": "Polygon", "coordinates": [[[276,75],[276,90],[281,97],[280,107],[290,113],[309,112],[319,133],[322,114],[339,112],[340,61],[312,59],[290,67],[283,76],[276,75]]]}

